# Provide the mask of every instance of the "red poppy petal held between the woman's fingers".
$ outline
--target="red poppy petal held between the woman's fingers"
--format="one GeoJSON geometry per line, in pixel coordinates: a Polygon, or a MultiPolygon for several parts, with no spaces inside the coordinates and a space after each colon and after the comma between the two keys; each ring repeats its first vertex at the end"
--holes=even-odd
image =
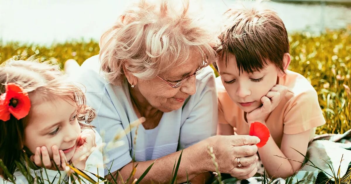
{"type": "Polygon", "coordinates": [[[258,148],[261,148],[267,143],[270,133],[269,129],[263,123],[253,122],[250,125],[249,135],[260,138],[261,141],[256,145],[258,148]]]}

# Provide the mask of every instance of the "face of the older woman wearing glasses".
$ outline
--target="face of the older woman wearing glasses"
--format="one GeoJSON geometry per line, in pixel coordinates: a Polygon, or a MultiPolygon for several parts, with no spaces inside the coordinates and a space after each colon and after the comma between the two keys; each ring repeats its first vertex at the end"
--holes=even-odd
{"type": "MultiPolygon", "coordinates": [[[[187,76],[193,75],[203,62],[202,55],[194,53],[183,66],[173,68],[166,74],[160,74],[164,80],[176,84],[187,76]]],[[[188,80],[178,88],[172,88],[164,80],[155,76],[151,80],[139,80],[137,90],[148,103],[163,112],[170,112],[181,108],[189,95],[196,92],[196,76],[188,80]]]]}

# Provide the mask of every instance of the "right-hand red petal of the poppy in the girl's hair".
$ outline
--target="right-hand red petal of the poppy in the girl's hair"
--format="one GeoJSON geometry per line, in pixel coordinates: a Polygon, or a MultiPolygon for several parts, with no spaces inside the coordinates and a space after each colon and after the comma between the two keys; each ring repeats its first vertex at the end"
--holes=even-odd
{"type": "Polygon", "coordinates": [[[26,117],[31,108],[31,101],[29,100],[28,93],[23,92],[22,88],[14,83],[8,83],[6,85],[6,92],[6,99],[11,100],[11,98],[15,98],[18,100],[17,106],[9,106],[8,111],[17,120],[26,117]]]}

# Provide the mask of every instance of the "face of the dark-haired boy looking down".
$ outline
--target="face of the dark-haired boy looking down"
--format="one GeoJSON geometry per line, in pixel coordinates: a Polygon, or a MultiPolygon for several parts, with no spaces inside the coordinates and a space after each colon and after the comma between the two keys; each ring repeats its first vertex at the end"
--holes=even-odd
{"type": "Polygon", "coordinates": [[[240,72],[236,59],[229,55],[225,61],[217,63],[223,85],[232,100],[245,112],[251,112],[262,105],[261,97],[277,84],[279,69],[271,62],[261,71],[240,72]]]}

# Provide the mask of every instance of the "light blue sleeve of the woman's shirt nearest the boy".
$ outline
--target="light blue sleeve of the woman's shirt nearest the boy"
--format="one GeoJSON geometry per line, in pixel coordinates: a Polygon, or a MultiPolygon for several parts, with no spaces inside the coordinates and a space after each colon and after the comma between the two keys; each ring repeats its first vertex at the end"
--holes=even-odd
{"type": "Polygon", "coordinates": [[[217,91],[214,83],[214,73],[202,79],[203,84],[192,96],[193,100],[188,103],[183,111],[190,111],[185,122],[180,128],[178,149],[187,148],[199,141],[216,135],[217,131],[217,91]],[[188,109],[189,107],[189,109],[188,109]]]}

